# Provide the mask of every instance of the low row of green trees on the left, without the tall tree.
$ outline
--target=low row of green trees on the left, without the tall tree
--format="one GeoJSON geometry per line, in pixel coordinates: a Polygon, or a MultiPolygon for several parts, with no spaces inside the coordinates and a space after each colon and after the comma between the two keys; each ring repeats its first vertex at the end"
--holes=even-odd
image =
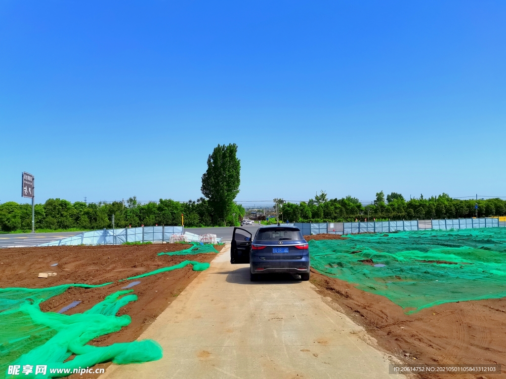
{"type": "MultiPolygon", "coordinates": [[[[232,203],[228,212],[225,215],[225,222],[233,225],[244,215],[244,208],[232,203]]],[[[209,201],[204,198],[197,201],[190,200],[187,203],[160,199],[158,203],[140,205],[134,196],[126,204],[122,202],[86,204],[49,199],[44,204],[35,205],[35,228],[53,230],[111,228],[113,214],[115,227],[118,228],[156,224],[181,225],[181,214],[184,215],[184,224],[188,227],[223,224],[220,218],[213,216],[214,211],[209,206],[209,201]]],[[[14,230],[31,230],[31,204],[15,202],[0,204],[0,231],[14,230]]]]}

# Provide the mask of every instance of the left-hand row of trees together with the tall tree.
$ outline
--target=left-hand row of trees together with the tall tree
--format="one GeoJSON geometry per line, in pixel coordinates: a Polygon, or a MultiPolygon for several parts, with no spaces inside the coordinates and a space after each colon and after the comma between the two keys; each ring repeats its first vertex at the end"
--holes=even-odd
{"type": "MultiPolygon", "coordinates": [[[[207,158],[207,170],[202,175],[201,191],[205,198],[186,203],[160,199],[144,205],[134,196],[125,204],[70,203],[49,199],[35,205],[35,229],[102,229],[117,227],[181,225],[189,227],[234,225],[244,216],[244,208],[235,204],[239,193],[240,160],[237,145],[218,145],[207,158]]],[[[30,230],[31,205],[8,202],[0,204],[0,231],[30,230]]]]}

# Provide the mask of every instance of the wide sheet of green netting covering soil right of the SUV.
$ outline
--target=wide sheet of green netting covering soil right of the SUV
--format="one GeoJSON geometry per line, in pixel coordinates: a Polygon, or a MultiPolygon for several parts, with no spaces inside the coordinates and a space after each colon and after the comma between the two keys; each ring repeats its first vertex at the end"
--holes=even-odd
{"type": "Polygon", "coordinates": [[[346,237],[310,241],[311,266],[360,290],[383,295],[407,313],[506,296],[506,228],[346,237]]]}

